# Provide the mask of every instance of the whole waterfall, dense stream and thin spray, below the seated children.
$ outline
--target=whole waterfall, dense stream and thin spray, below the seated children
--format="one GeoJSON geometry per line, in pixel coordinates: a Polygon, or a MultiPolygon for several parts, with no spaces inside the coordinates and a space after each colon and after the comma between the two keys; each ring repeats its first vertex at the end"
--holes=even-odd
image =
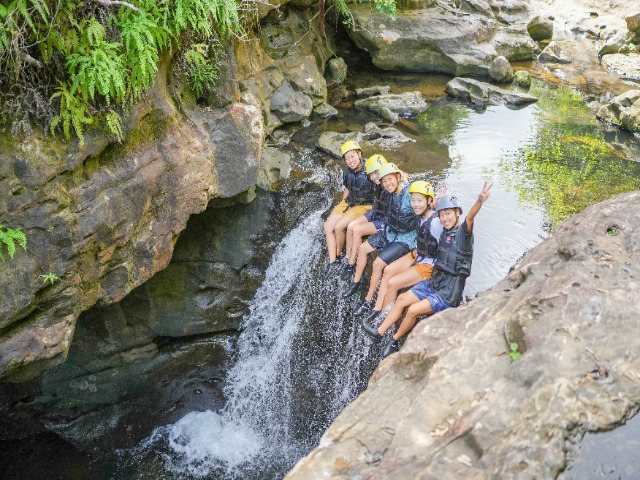
{"type": "MultiPolygon", "coordinates": [[[[256,293],[228,372],[220,412],[191,412],[157,428],[121,458],[149,459],[136,478],[282,478],[366,386],[377,355],[343,301],[346,286],[323,279],[322,210],[277,247],[256,293]]],[[[326,255],[325,255],[326,256],[326,255]]],[[[143,462],[144,463],[144,462],[143,462]]]]}

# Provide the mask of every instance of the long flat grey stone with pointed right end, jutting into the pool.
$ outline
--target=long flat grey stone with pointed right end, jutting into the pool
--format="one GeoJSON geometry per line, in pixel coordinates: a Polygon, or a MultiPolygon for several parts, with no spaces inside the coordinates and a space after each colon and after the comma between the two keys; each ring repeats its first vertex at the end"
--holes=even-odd
{"type": "Polygon", "coordinates": [[[482,109],[488,105],[521,107],[538,101],[533,95],[505,90],[473,78],[454,78],[447,83],[445,92],[450,97],[459,98],[476,109],[482,109]]]}

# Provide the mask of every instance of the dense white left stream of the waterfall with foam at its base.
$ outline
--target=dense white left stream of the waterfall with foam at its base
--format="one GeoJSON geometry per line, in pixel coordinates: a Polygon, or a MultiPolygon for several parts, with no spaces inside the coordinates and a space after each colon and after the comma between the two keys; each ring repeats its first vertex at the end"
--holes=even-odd
{"type": "Polygon", "coordinates": [[[308,446],[296,443],[290,434],[288,412],[293,408],[292,345],[307,305],[290,299],[313,288],[321,213],[306,216],[276,249],[238,340],[225,408],[220,413],[191,412],[173,425],[157,428],[129,455],[140,459],[161,451],[165,473],[175,478],[248,478],[265,463],[275,470],[286,468],[306,453],[308,446]]]}

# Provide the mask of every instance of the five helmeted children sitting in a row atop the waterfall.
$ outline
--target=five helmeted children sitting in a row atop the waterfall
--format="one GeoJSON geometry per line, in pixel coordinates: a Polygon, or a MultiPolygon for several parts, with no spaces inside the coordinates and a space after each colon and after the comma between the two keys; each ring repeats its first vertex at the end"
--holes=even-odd
{"type": "Polygon", "coordinates": [[[462,207],[456,197],[445,196],[446,189],[435,197],[430,183],[409,184],[408,176],[382,155],[363,158],[354,141],[345,142],[340,153],[346,163],[344,193],[324,224],[329,250],[326,274],[345,280],[353,275],[344,294],[350,297],[360,290],[369,254],[377,253],[369,290],[354,315],[365,316],[364,331],[379,343],[406,309],[397,332],[384,345],[382,356],[386,357],[398,348],[399,339],[413,328],[419,315],[462,301],[471,273],[473,221],[493,184],[485,182],[461,219],[462,207]],[[391,304],[382,324],[375,327],[391,304]]]}

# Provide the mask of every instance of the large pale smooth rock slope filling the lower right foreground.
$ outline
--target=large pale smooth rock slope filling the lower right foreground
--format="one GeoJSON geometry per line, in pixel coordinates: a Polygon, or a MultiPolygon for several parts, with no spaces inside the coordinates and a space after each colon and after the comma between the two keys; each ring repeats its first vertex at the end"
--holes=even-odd
{"type": "Polygon", "coordinates": [[[420,321],[286,478],[555,478],[640,405],[639,226],[639,192],[588,207],[420,321]]]}

